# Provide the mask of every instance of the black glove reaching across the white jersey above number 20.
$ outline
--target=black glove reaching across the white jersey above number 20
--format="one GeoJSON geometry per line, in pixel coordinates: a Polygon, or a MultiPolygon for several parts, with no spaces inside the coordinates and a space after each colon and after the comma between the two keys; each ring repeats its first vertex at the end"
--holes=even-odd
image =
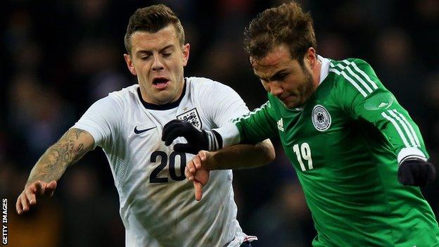
{"type": "Polygon", "coordinates": [[[215,151],[222,146],[220,134],[215,131],[197,129],[190,122],[172,120],[163,127],[162,141],[170,146],[177,137],[184,137],[187,144],[175,144],[174,151],[196,154],[198,151],[215,151]]]}

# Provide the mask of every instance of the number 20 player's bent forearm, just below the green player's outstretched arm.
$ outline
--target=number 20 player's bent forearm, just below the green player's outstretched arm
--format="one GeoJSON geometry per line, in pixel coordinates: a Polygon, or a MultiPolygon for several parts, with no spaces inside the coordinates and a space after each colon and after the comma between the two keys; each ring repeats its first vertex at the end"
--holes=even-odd
{"type": "Polygon", "coordinates": [[[252,168],[274,160],[274,148],[269,139],[257,143],[227,146],[212,152],[208,158],[208,170],[252,168]]]}

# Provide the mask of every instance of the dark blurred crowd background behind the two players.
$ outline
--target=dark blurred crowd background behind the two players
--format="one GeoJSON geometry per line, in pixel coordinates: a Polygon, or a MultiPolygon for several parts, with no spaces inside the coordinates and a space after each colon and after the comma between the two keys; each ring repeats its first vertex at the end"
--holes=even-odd
{"type": "MultiPolygon", "coordinates": [[[[179,15],[191,44],[186,76],[229,85],[250,110],[266,101],[243,51],[243,30],[256,13],[282,1],[2,2],[0,194],[8,198],[10,246],[124,245],[118,196],[101,148],[69,167],[55,196],[32,213],[18,217],[15,200],[39,156],[91,103],[136,83],[122,57],[123,36],[136,8],[159,2],[179,15]]],[[[368,61],[419,125],[439,168],[439,1],[299,2],[314,18],[317,52],[368,61]]],[[[303,192],[273,141],[272,164],[234,172],[238,220],[259,237],[253,246],[310,246],[315,233],[303,192]]],[[[438,189],[438,179],[423,189],[436,215],[438,189]]]]}

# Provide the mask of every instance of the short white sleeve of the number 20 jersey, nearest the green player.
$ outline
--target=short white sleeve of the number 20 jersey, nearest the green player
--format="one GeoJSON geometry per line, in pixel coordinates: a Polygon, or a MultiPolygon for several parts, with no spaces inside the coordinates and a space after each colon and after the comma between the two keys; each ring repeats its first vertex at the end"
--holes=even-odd
{"type": "Polygon", "coordinates": [[[212,87],[203,92],[201,102],[205,102],[203,109],[217,127],[223,127],[249,112],[241,96],[231,87],[219,82],[213,82],[212,87]]]}

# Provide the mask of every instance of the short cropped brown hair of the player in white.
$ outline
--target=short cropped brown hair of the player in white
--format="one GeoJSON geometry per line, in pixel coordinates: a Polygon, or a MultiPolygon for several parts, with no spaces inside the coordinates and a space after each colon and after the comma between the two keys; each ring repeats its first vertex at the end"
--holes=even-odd
{"type": "Polygon", "coordinates": [[[125,33],[125,49],[131,54],[131,37],[134,32],[158,32],[167,25],[174,25],[181,45],[184,45],[184,30],[179,18],[174,11],[164,4],[138,8],[129,18],[127,32],[125,33]]]}

